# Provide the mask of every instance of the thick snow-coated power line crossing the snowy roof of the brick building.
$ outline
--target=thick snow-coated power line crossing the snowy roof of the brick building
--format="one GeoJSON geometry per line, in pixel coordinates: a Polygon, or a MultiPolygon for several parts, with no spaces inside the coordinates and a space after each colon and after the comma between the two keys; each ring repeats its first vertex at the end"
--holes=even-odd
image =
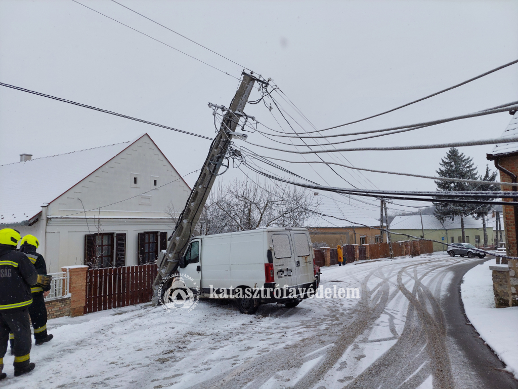
{"type": "Polygon", "coordinates": [[[500,143],[511,143],[518,142],[518,136],[500,137],[492,139],[481,139],[478,141],[468,142],[451,142],[451,143],[439,143],[435,145],[415,145],[415,146],[389,146],[389,147],[354,147],[354,148],[339,148],[339,149],[326,149],[326,150],[312,150],[312,151],[293,151],[275,147],[268,147],[258,145],[255,143],[248,142],[249,144],[257,147],[266,148],[269,150],[291,152],[293,154],[319,154],[327,152],[341,152],[341,151],[394,151],[394,150],[427,150],[435,148],[450,148],[450,147],[465,147],[465,146],[481,146],[481,145],[493,145],[500,143]]]}

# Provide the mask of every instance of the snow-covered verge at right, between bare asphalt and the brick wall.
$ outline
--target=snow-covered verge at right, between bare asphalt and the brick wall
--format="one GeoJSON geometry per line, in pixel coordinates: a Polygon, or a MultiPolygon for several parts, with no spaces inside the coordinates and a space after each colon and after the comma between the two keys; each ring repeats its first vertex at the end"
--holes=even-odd
{"type": "Polygon", "coordinates": [[[518,379],[518,307],[495,308],[492,265],[496,265],[495,259],[464,275],[462,301],[471,324],[518,379]]]}

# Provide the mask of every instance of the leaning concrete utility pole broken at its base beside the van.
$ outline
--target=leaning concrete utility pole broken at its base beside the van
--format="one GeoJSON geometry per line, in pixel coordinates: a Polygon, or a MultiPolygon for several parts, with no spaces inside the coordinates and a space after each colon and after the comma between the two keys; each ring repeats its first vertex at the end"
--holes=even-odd
{"type": "Polygon", "coordinates": [[[223,165],[228,147],[232,141],[232,134],[236,130],[239,119],[243,116],[244,106],[247,104],[255,81],[266,84],[266,82],[262,80],[243,73],[241,85],[232,100],[230,108],[224,114],[220,131],[212,141],[209,155],[205,159],[202,171],[200,171],[196,184],[194,184],[193,190],[191,191],[191,195],[176,222],[175,231],[169,238],[166,255],[161,254],[156,261],[159,273],[153,282],[154,303],[157,303],[158,296],[156,295],[156,291],[162,280],[178,269],[179,258],[191,240],[196,223],[198,222],[199,216],[209,197],[212,185],[214,184],[214,180],[218,175],[221,165],[223,165]]]}

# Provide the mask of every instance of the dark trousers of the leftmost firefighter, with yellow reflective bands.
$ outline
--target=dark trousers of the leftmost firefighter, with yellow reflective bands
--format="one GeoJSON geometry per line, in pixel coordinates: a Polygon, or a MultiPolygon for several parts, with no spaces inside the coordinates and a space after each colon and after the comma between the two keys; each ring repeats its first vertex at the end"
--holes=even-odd
{"type": "Polygon", "coordinates": [[[13,351],[15,353],[15,368],[23,367],[30,363],[32,346],[31,323],[29,322],[28,309],[0,311],[0,359],[3,359],[7,351],[9,333],[15,336],[13,351]]]}

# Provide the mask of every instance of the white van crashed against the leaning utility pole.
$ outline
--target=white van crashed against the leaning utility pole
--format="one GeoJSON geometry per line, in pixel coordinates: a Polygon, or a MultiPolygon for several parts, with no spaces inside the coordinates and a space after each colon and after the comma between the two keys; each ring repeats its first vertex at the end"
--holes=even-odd
{"type": "Polygon", "coordinates": [[[320,281],[305,228],[194,237],[180,258],[178,272],[186,288],[200,297],[236,299],[239,310],[248,314],[261,303],[295,307],[316,291],[320,281]]]}

